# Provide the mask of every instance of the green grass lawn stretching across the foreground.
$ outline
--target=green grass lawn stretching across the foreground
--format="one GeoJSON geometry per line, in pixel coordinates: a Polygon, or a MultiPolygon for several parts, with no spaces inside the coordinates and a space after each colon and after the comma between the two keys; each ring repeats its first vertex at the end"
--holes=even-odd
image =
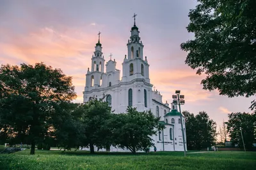
{"type": "Polygon", "coordinates": [[[256,152],[97,153],[29,150],[0,155],[0,169],[255,169],[256,152]]]}

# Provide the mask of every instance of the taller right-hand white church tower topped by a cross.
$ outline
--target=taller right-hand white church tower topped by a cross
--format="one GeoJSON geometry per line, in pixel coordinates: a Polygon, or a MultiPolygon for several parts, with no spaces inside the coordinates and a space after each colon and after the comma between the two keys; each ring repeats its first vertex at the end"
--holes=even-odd
{"type": "Polygon", "coordinates": [[[139,28],[136,26],[136,15],[134,14],[134,25],[131,28],[131,36],[127,43],[128,56],[125,55],[123,65],[122,81],[132,81],[136,78],[142,78],[150,83],[148,73],[147,57],[143,57],[143,47],[139,28]]]}

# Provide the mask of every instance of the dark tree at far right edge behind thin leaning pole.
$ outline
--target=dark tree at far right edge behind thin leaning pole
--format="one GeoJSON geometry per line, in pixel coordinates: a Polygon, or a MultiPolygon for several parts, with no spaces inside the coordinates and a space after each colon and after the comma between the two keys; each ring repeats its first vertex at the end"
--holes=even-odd
{"type": "Polygon", "coordinates": [[[242,130],[244,145],[247,150],[251,150],[253,143],[256,143],[256,115],[239,112],[229,114],[228,118],[227,130],[232,145],[243,148],[242,130]]]}

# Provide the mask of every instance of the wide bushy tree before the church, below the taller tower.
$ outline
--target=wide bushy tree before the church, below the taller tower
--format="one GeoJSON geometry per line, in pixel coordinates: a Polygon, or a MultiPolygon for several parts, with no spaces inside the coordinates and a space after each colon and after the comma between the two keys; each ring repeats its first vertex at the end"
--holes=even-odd
{"type": "Polygon", "coordinates": [[[127,108],[127,113],[115,115],[111,124],[113,145],[128,148],[132,153],[153,146],[150,136],[164,128],[151,111],[139,112],[131,106],[127,108]]]}

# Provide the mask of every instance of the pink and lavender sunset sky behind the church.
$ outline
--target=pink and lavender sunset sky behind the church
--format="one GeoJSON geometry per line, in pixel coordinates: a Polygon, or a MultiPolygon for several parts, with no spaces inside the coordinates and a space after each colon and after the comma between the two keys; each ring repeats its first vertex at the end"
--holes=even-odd
{"type": "Polygon", "coordinates": [[[106,61],[112,53],[116,68],[122,71],[136,13],[150,82],[163,95],[163,103],[171,103],[175,90],[181,90],[186,100],[182,111],[206,111],[220,125],[228,120],[228,113],[251,113],[253,97],[228,98],[219,96],[217,90],[203,90],[204,75],[196,75],[185,64],[187,53],[180,50],[180,43],[194,38],[186,26],[189,10],[195,6],[195,0],[1,0],[0,64],[44,62],[61,68],[73,77],[75,102],[81,103],[98,32],[102,32],[106,61]]]}

